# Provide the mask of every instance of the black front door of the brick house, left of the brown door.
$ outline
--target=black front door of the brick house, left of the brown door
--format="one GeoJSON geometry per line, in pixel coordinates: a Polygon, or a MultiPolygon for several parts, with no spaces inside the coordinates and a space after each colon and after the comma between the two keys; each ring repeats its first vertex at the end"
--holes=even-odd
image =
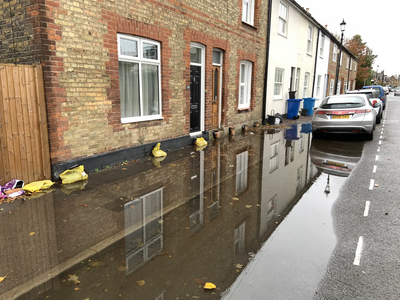
{"type": "Polygon", "coordinates": [[[200,131],[201,66],[190,66],[190,132],[200,131]]]}

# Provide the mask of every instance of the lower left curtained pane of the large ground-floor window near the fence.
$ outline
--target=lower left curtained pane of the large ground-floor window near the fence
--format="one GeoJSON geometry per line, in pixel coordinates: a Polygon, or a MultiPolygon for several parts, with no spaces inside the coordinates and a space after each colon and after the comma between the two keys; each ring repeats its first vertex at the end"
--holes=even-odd
{"type": "Polygon", "coordinates": [[[121,117],[140,116],[139,64],[119,62],[121,117]]]}

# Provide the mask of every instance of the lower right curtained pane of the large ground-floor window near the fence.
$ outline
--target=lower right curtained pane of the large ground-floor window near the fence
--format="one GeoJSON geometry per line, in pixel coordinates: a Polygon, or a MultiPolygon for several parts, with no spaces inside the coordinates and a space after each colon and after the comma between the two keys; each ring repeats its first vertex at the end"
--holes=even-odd
{"type": "Polygon", "coordinates": [[[158,66],[142,64],[143,116],[160,113],[158,91],[158,66]]]}

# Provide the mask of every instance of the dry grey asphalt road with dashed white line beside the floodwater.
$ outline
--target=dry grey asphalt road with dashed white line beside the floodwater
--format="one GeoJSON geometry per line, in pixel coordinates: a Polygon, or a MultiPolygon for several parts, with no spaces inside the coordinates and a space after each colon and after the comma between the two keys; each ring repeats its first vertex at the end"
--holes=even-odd
{"type": "Polygon", "coordinates": [[[337,245],[314,299],[399,299],[400,99],[388,96],[384,121],[332,210],[337,245]]]}

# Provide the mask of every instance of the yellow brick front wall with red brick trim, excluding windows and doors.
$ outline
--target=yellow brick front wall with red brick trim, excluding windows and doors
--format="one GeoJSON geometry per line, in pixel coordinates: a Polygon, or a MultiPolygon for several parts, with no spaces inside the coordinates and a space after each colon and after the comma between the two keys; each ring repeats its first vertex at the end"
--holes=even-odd
{"type": "Polygon", "coordinates": [[[191,42],[206,47],[205,129],[213,129],[213,48],[224,51],[222,126],[260,122],[267,29],[261,3],[253,27],[241,22],[241,1],[47,1],[55,28],[46,35],[55,52],[48,50],[45,61],[52,163],[188,135],[191,42]],[[118,33],[161,43],[162,120],[121,123],[118,33]],[[247,111],[237,109],[240,59],[254,63],[247,111]]]}

